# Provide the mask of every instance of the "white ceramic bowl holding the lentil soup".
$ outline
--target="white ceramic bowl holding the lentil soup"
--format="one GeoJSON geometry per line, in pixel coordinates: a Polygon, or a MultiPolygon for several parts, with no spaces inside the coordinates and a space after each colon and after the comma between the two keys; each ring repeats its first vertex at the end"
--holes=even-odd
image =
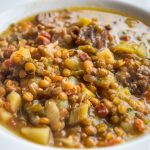
{"type": "MultiPolygon", "coordinates": [[[[0,32],[5,30],[11,23],[17,22],[24,17],[37,14],[51,9],[60,9],[72,6],[93,6],[106,9],[122,11],[129,16],[150,24],[150,11],[143,10],[131,4],[115,0],[41,0],[40,2],[30,1],[29,4],[12,8],[0,14],[0,32]],[[149,22],[148,22],[149,21],[149,22]]],[[[143,135],[124,144],[95,148],[100,150],[150,150],[150,134],[143,135]]],[[[50,150],[60,149],[49,146],[41,146],[22,139],[4,127],[0,127],[0,149],[1,150],[50,150]]],[[[62,149],[62,148],[61,148],[62,149]]]]}

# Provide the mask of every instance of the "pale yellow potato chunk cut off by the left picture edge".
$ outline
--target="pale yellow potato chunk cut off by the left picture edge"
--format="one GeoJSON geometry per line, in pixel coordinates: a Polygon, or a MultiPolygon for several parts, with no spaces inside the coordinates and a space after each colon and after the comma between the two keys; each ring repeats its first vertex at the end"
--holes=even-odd
{"type": "Polygon", "coordinates": [[[0,108],[0,120],[2,122],[8,122],[12,118],[12,114],[6,111],[4,108],[0,108]]]}

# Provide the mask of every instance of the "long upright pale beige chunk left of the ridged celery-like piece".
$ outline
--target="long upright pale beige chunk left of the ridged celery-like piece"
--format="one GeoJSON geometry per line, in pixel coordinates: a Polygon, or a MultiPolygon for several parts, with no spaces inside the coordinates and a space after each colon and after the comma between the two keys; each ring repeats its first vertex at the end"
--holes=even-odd
{"type": "Polygon", "coordinates": [[[59,130],[61,128],[60,113],[55,102],[48,101],[45,105],[46,116],[50,121],[52,130],[59,130]]]}

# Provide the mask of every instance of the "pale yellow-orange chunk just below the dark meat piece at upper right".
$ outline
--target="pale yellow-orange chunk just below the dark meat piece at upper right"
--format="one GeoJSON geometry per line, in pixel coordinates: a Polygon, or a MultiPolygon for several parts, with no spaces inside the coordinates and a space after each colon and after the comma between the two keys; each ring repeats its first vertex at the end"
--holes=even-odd
{"type": "Polygon", "coordinates": [[[100,61],[106,64],[113,64],[115,61],[113,53],[109,49],[97,52],[97,56],[100,61]]]}

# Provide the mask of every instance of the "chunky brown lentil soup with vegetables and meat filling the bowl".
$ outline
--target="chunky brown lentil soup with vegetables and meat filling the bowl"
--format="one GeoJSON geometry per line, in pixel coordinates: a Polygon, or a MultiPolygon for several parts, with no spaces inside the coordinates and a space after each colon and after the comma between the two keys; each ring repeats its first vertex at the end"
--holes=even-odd
{"type": "Polygon", "coordinates": [[[150,28],[94,9],[40,13],[0,35],[0,122],[33,142],[101,147],[150,128],[150,28]]]}

